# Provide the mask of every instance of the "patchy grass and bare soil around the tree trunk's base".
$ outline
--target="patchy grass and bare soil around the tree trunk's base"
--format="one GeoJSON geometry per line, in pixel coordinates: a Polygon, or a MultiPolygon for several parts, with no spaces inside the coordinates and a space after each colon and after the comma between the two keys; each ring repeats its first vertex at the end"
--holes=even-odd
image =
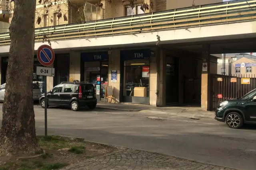
{"type": "Polygon", "coordinates": [[[40,147],[45,151],[44,154],[38,152],[36,154],[42,155],[22,159],[17,158],[31,155],[0,157],[0,170],[56,170],[113,151],[108,146],[88,143],[83,139],[60,136],[37,138],[40,147]]]}

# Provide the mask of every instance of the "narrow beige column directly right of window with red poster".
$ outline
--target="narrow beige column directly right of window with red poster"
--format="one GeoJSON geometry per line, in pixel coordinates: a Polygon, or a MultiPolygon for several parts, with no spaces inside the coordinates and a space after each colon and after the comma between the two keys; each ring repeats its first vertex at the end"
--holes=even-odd
{"type": "MultiPolygon", "coordinates": [[[[153,49],[155,50],[155,49],[153,49]]],[[[156,106],[157,101],[157,62],[156,54],[154,57],[150,57],[150,91],[149,91],[149,104],[156,106]]]]}

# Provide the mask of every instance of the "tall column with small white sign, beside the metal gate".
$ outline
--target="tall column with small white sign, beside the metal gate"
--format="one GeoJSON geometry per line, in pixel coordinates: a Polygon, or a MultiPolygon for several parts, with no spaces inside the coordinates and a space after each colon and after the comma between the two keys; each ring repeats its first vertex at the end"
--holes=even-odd
{"type": "Polygon", "coordinates": [[[203,110],[210,110],[210,45],[202,45],[203,64],[207,64],[207,70],[202,67],[202,88],[201,88],[201,108],[203,110]]]}

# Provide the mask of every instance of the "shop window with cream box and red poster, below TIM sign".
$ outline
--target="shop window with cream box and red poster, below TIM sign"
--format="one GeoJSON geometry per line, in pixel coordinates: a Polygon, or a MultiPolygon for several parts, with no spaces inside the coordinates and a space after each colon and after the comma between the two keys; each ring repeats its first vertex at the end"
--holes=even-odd
{"type": "Polygon", "coordinates": [[[150,62],[124,61],[124,102],[149,104],[150,62]]]}

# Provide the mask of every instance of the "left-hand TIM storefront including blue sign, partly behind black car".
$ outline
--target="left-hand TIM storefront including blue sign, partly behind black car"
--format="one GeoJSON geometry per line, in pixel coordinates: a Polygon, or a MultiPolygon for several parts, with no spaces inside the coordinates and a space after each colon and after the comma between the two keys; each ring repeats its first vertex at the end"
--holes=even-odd
{"type": "Polygon", "coordinates": [[[104,100],[108,86],[108,52],[81,53],[81,81],[93,84],[97,100],[104,100]]]}

